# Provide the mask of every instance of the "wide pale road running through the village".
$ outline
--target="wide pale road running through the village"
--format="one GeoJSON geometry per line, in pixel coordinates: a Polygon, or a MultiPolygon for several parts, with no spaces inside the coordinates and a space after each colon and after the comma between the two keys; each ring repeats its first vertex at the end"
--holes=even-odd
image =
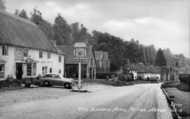
{"type": "MultiPolygon", "coordinates": [[[[89,93],[66,91],[66,95],[55,92],[56,98],[3,105],[0,119],[172,119],[160,84],[89,90],[89,93]]],[[[32,91],[30,93],[28,95],[32,95],[32,91]]]]}

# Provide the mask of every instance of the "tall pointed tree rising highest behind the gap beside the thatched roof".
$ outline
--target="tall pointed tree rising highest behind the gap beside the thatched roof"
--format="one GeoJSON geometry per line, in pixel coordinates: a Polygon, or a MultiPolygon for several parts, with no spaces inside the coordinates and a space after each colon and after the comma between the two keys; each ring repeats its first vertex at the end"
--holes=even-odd
{"type": "Polygon", "coordinates": [[[55,18],[53,30],[55,33],[54,39],[57,41],[57,44],[72,43],[71,28],[60,14],[55,18]]]}

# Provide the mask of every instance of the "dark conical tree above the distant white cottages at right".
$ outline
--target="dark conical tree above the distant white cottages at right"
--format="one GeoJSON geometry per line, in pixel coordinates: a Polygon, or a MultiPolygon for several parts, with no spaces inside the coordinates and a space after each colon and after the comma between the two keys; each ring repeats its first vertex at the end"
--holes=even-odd
{"type": "Polygon", "coordinates": [[[159,49],[156,54],[155,64],[156,64],[156,66],[160,66],[160,67],[167,65],[166,58],[165,58],[165,55],[164,55],[162,49],[159,49]]]}

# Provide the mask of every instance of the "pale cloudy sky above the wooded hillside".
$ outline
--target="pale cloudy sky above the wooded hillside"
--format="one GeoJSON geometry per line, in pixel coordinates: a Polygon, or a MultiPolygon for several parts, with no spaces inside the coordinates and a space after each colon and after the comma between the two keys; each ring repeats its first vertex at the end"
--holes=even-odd
{"type": "Polygon", "coordinates": [[[7,11],[33,8],[53,23],[61,14],[68,23],[79,22],[144,45],[170,48],[190,57],[190,0],[4,0],[7,11]]]}

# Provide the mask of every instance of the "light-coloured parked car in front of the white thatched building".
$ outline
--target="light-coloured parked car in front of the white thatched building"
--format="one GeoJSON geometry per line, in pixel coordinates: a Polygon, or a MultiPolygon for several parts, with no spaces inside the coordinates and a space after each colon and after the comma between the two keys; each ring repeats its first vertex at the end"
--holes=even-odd
{"type": "Polygon", "coordinates": [[[42,86],[64,86],[65,88],[72,88],[74,80],[72,78],[65,78],[59,74],[46,74],[39,78],[42,86]]]}

